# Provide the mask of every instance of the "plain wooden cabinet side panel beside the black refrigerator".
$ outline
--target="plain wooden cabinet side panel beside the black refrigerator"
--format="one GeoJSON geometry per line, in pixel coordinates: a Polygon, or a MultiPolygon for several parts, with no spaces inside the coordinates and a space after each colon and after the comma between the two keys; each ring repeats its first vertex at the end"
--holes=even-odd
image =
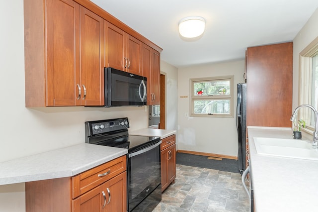
{"type": "Polygon", "coordinates": [[[290,127],[293,43],[247,48],[247,126],[290,127]]]}

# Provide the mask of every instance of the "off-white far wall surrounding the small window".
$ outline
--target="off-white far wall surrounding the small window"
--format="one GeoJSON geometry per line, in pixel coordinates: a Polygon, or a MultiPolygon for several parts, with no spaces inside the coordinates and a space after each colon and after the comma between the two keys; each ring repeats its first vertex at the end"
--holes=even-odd
{"type": "Polygon", "coordinates": [[[178,71],[178,149],[195,152],[238,155],[236,128],[237,84],[243,83],[245,62],[232,61],[179,68],[178,71]],[[234,117],[186,117],[190,114],[190,79],[234,75],[234,117]],[[180,98],[188,96],[188,98],[180,98]]]}

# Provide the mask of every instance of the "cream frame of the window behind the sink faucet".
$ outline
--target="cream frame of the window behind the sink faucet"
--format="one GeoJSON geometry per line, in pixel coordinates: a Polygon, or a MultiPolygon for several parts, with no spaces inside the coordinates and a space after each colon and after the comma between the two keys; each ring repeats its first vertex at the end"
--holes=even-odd
{"type": "MultiPolygon", "coordinates": [[[[313,40],[299,54],[299,90],[298,104],[312,105],[312,76],[313,76],[313,57],[318,55],[318,37],[313,40]]],[[[318,109],[318,106],[314,106],[318,109]]],[[[313,134],[315,126],[309,120],[313,118],[313,111],[309,108],[300,109],[298,111],[298,119],[306,121],[306,128],[302,129],[307,133],[313,134]]]]}

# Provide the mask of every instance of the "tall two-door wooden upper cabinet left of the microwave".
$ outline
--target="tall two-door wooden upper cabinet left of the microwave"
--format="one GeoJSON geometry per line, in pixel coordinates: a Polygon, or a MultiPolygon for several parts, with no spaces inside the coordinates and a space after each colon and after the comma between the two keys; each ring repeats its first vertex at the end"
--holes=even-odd
{"type": "Polygon", "coordinates": [[[26,106],[103,105],[104,22],[73,0],[25,0],[26,106]]]}

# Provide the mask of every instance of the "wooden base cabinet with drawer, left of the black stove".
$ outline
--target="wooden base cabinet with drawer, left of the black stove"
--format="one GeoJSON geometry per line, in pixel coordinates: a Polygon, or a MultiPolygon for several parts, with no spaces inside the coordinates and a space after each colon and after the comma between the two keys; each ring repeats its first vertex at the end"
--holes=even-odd
{"type": "Polygon", "coordinates": [[[74,177],[25,183],[26,212],[126,212],[126,155],[74,177]]]}

